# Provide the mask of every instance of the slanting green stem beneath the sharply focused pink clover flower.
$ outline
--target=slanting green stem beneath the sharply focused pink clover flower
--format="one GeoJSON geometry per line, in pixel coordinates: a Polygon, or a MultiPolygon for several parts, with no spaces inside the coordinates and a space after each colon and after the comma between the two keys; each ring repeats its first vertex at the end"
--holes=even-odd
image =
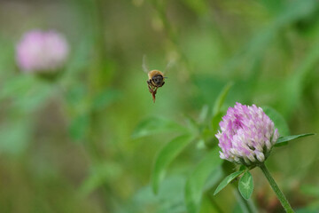
{"type": "Polygon", "coordinates": [[[284,210],[286,212],[289,212],[289,213],[294,212],[291,205],[289,204],[289,202],[285,198],[284,193],[282,193],[282,191],[280,191],[278,185],[276,185],[274,178],[270,175],[265,163],[262,163],[260,165],[260,168],[261,168],[262,172],[264,173],[264,175],[266,176],[266,178],[268,179],[269,185],[272,187],[272,189],[276,193],[276,196],[277,196],[278,200],[281,202],[282,206],[284,207],[284,210]]]}

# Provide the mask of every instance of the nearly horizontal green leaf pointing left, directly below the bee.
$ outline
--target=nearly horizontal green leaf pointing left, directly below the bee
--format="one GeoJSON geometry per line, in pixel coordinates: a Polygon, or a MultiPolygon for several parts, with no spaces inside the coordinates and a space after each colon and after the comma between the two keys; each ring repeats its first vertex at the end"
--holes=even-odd
{"type": "Polygon", "coordinates": [[[142,138],[153,134],[165,132],[187,132],[188,130],[177,122],[171,120],[152,117],[144,122],[140,122],[132,134],[132,138],[142,138]]]}

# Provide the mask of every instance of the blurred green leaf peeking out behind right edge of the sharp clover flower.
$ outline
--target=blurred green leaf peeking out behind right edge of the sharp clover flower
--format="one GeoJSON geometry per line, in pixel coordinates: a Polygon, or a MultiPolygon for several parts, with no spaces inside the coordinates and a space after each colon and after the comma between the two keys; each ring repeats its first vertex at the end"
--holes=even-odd
{"type": "Polygon", "coordinates": [[[262,106],[262,110],[268,117],[275,123],[275,128],[281,136],[290,135],[290,130],[287,122],[284,120],[283,115],[279,114],[274,108],[270,106],[262,106]]]}

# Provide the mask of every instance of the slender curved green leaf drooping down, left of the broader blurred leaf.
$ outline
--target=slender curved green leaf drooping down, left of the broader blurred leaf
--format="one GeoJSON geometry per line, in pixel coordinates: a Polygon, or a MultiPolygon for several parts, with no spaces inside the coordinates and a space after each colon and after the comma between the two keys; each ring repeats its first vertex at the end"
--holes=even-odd
{"type": "Polygon", "coordinates": [[[169,163],[173,162],[175,157],[191,142],[191,139],[191,135],[188,134],[179,136],[168,142],[159,151],[152,169],[152,189],[154,193],[158,193],[159,183],[165,176],[165,170],[169,163]]]}

